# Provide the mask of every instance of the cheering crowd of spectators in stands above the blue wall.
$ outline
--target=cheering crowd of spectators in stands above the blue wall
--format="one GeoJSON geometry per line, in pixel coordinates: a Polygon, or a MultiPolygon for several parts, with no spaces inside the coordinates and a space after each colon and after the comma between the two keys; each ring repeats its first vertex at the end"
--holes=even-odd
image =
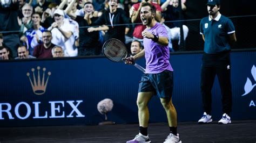
{"type": "MultiPolygon", "coordinates": [[[[178,0],[5,0],[0,1],[1,59],[55,58],[102,54],[111,38],[132,52],[143,49],[140,20],[143,3],[156,6],[156,19],[180,40],[178,0]],[[134,42],[135,41],[135,42],[134,42]],[[138,47],[138,49],[136,49],[138,47]]],[[[186,10],[181,0],[181,9],[186,10]]],[[[188,28],[183,25],[184,40],[188,28]]]]}

